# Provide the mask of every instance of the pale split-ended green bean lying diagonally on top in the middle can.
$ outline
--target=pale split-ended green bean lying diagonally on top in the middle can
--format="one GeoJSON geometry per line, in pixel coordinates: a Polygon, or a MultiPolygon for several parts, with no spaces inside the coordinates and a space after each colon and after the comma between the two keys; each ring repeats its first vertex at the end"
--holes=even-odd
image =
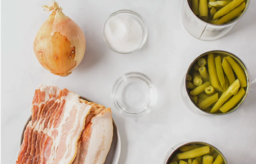
{"type": "Polygon", "coordinates": [[[233,82],[229,86],[229,88],[221,95],[219,100],[216,102],[216,104],[212,107],[211,113],[217,112],[219,108],[232,96],[237,94],[238,90],[240,88],[240,81],[239,79],[236,79],[236,81],[233,82]]]}

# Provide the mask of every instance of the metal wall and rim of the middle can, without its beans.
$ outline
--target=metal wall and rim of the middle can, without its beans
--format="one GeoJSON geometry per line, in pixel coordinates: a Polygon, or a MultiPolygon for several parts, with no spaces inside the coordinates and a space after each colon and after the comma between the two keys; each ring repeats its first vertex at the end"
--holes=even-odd
{"type": "Polygon", "coordinates": [[[184,75],[183,79],[182,79],[182,83],[181,83],[181,97],[183,99],[184,104],[188,107],[188,109],[190,109],[192,112],[196,113],[196,114],[200,114],[200,115],[204,115],[204,116],[221,116],[221,115],[226,115],[229,113],[232,113],[234,111],[236,111],[238,108],[240,108],[240,106],[242,104],[244,104],[244,102],[246,101],[249,92],[250,92],[250,88],[251,88],[251,77],[249,74],[249,70],[246,67],[245,63],[242,62],[242,60],[240,58],[238,58],[236,55],[232,54],[231,52],[227,52],[227,51],[223,51],[223,50],[212,50],[212,51],[208,51],[205,52],[201,55],[199,55],[195,60],[193,60],[193,62],[191,63],[191,65],[189,66],[186,74],[184,75]],[[218,114],[214,114],[214,113],[207,113],[204,110],[198,108],[193,101],[191,100],[191,98],[189,97],[189,91],[186,87],[186,80],[187,79],[187,75],[189,73],[189,70],[191,69],[191,67],[194,65],[194,63],[197,61],[197,59],[201,58],[202,56],[209,54],[209,53],[213,53],[213,54],[221,54],[221,55],[225,55],[225,56],[231,56],[237,63],[238,65],[240,65],[240,67],[242,68],[242,70],[244,71],[245,75],[246,75],[246,79],[247,79],[247,88],[245,90],[245,95],[242,98],[242,100],[236,105],[236,107],[234,107],[232,110],[230,110],[227,113],[218,113],[218,114]]]}

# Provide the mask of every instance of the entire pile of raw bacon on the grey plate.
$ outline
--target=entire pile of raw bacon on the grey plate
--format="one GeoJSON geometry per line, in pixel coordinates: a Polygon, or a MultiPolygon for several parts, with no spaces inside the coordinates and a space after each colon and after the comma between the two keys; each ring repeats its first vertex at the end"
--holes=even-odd
{"type": "Polygon", "coordinates": [[[57,86],[35,91],[16,164],[103,164],[113,137],[110,108],[57,86]]]}

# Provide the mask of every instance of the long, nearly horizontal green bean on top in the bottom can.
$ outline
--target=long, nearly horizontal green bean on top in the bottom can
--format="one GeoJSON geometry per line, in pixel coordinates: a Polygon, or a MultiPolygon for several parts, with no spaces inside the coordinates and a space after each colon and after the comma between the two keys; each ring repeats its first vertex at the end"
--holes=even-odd
{"type": "Polygon", "coordinates": [[[187,152],[178,153],[177,157],[178,159],[189,159],[189,158],[195,158],[195,157],[205,155],[209,152],[210,152],[210,147],[204,146],[204,147],[196,148],[187,152]]]}

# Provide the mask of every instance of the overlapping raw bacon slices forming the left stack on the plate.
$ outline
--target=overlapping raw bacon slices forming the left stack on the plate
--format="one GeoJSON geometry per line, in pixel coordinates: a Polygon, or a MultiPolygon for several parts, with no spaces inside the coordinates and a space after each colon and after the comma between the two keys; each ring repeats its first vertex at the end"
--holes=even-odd
{"type": "Polygon", "coordinates": [[[76,93],[40,86],[16,164],[71,164],[90,109],[76,93]]]}

